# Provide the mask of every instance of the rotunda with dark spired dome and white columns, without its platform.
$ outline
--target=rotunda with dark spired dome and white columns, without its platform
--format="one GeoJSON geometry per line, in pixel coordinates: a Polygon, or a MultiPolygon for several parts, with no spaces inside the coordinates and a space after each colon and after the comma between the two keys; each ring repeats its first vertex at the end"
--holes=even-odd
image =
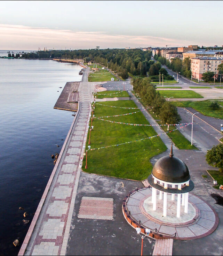
{"type": "Polygon", "coordinates": [[[163,198],[163,216],[167,216],[167,194],[171,194],[172,201],[177,195],[177,218],[180,218],[181,204],[184,212],[188,213],[189,191],[194,188],[190,179],[190,174],[186,164],[179,158],[173,156],[173,145],[169,156],[161,157],[152,169],[152,174],[148,177],[148,182],[152,187],[153,211],[156,211],[157,190],[159,199],[163,198]],[[182,201],[181,201],[182,195],[182,201]]]}

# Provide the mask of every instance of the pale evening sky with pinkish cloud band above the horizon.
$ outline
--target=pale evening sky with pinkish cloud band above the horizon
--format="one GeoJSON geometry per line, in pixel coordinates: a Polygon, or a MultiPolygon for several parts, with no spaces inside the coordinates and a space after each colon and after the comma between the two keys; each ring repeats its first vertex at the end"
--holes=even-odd
{"type": "Polygon", "coordinates": [[[223,45],[223,1],[0,1],[0,49],[223,45]]]}

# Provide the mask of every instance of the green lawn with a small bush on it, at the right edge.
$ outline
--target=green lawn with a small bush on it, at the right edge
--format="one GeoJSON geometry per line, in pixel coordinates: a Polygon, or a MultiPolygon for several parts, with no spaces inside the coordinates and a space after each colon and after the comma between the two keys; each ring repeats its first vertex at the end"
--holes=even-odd
{"type": "MultiPolygon", "coordinates": [[[[203,100],[203,101],[171,101],[177,107],[192,107],[203,115],[212,116],[215,118],[223,119],[223,109],[220,107],[217,110],[211,110],[210,104],[211,101],[203,100]]],[[[218,101],[219,104],[222,102],[218,101]]]]}

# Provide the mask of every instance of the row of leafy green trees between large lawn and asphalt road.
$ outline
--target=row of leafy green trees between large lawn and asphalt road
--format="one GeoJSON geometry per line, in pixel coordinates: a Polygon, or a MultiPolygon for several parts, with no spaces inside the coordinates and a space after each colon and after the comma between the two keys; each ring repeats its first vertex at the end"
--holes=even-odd
{"type": "Polygon", "coordinates": [[[134,91],[139,94],[146,106],[153,107],[153,112],[159,115],[162,123],[171,125],[180,122],[181,117],[176,106],[160,95],[151,85],[150,78],[133,78],[132,84],[134,91]]]}

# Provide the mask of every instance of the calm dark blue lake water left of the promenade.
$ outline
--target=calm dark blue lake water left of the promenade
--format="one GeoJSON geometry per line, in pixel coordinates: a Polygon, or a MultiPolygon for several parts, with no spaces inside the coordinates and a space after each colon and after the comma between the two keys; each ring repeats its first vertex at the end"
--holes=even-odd
{"type": "Polygon", "coordinates": [[[74,118],[53,109],[59,87],[80,81],[80,69],[51,60],[0,59],[0,255],[17,255],[25,238],[54,168],[51,155],[60,152],[74,118]]]}

